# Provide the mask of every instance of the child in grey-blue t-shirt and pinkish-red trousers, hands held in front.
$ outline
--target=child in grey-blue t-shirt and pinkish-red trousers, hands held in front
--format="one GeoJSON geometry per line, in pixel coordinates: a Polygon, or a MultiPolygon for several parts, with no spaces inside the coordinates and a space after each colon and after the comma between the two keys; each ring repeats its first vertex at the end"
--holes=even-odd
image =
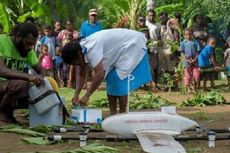
{"type": "Polygon", "coordinates": [[[191,81],[194,79],[193,91],[199,84],[199,69],[197,64],[198,52],[200,51],[199,43],[193,39],[193,31],[186,28],[184,31],[185,39],[181,42],[179,51],[184,64],[184,84],[186,92],[191,92],[191,81]]]}

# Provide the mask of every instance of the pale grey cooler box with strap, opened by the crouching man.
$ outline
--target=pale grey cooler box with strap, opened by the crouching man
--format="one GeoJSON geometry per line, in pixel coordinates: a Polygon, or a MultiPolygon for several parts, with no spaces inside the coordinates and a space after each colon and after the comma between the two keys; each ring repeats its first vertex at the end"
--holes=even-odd
{"type": "MultiPolygon", "coordinates": [[[[45,78],[44,84],[37,87],[30,87],[28,94],[32,101],[36,100],[47,91],[53,90],[49,81],[45,78]]],[[[46,94],[35,104],[29,104],[29,122],[30,126],[37,125],[63,125],[62,108],[64,97],[61,97],[62,103],[54,92],[46,94]]]]}

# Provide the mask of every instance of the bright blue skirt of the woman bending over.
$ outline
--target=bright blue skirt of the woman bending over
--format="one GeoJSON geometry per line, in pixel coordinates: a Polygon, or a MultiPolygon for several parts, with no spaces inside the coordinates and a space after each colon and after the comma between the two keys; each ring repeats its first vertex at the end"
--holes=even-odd
{"type": "MultiPolygon", "coordinates": [[[[147,53],[131,72],[131,75],[133,76],[133,80],[130,81],[130,91],[152,80],[147,53]]],[[[124,96],[128,94],[128,77],[121,80],[115,68],[108,73],[105,80],[108,95],[124,96]]]]}

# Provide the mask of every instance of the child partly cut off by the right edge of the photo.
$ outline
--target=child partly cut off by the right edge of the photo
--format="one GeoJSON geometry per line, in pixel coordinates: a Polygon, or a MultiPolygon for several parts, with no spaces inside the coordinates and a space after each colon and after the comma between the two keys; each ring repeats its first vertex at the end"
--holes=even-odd
{"type": "Polygon", "coordinates": [[[230,90],[230,39],[227,40],[228,49],[224,53],[224,66],[227,68],[228,89],[230,90]]]}

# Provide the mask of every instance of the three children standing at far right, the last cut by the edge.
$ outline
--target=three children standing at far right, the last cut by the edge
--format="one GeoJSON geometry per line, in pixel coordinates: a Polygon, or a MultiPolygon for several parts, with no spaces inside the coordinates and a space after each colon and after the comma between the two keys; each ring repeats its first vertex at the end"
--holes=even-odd
{"type": "MultiPolygon", "coordinates": [[[[184,65],[184,85],[186,92],[194,92],[200,85],[200,72],[202,72],[203,89],[206,90],[206,82],[210,78],[211,87],[215,87],[213,70],[217,69],[215,52],[216,39],[209,37],[203,49],[200,43],[193,38],[192,28],[184,30],[185,39],[180,43],[179,51],[184,65]],[[193,86],[191,83],[194,81],[193,86]]],[[[228,40],[228,49],[225,52],[224,66],[228,71],[228,87],[230,89],[230,41],[228,40]]]]}

